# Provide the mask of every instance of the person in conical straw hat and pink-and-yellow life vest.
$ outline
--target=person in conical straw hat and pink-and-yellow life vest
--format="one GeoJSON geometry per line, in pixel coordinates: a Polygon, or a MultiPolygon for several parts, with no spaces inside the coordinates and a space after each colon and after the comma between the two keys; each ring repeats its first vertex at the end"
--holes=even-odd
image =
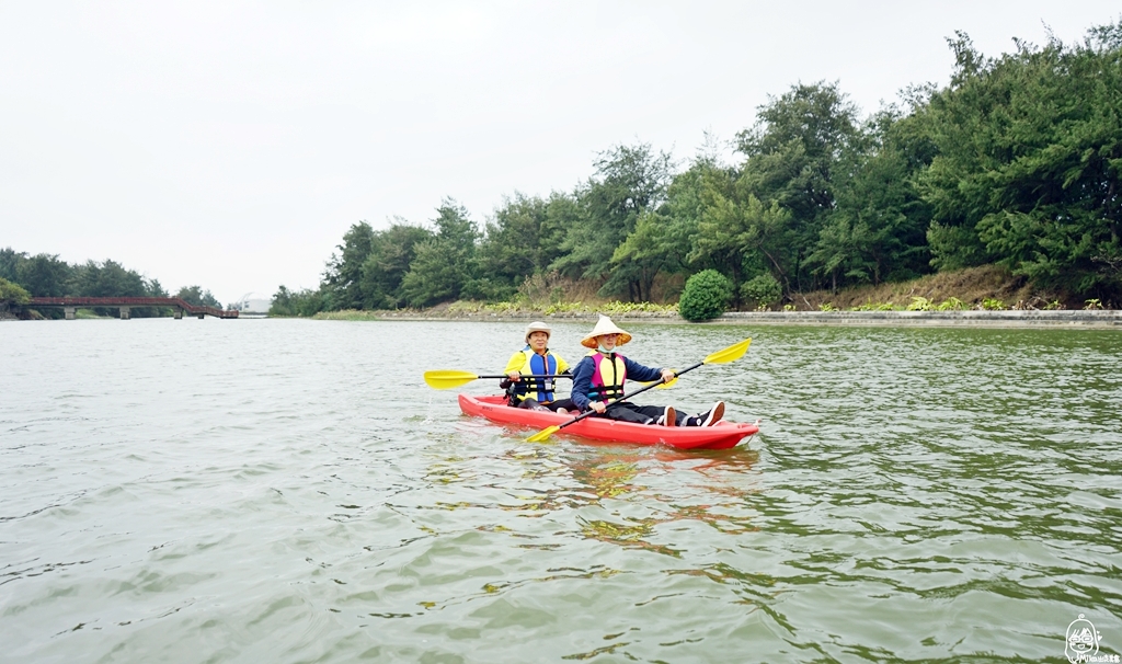
{"type": "Polygon", "coordinates": [[[711,426],[725,416],[724,402],[717,402],[707,413],[689,416],[672,406],[636,406],[628,402],[609,405],[608,402],[624,396],[624,382],[628,378],[641,382],[674,378],[671,369],[645,367],[616,352],[631,339],[631,334],[617,328],[611,319],[601,315],[592,332],[580,342],[592,349],[572,374],[572,402],[580,412],[592,409],[601,417],[664,426],[711,426]]]}

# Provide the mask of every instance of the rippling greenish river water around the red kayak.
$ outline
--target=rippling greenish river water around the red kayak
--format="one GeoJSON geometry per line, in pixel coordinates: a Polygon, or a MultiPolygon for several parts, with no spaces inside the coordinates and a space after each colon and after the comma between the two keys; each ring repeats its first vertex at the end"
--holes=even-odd
{"type": "Polygon", "coordinates": [[[1064,662],[1080,615],[1122,653],[1122,334],[624,326],[752,336],[640,399],[761,434],[533,444],[422,381],[519,323],[0,323],[0,661],[1064,662]]]}

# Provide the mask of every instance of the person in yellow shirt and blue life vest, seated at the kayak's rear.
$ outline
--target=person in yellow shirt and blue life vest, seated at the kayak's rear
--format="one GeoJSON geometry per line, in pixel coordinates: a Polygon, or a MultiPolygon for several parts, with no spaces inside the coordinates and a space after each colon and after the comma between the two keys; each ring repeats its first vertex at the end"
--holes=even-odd
{"type": "Polygon", "coordinates": [[[519,408],[548,408],[568,414],[576,411],[572,400],[557,399],[553,390],[555,378],[523,378],[523,376],[559,376],[569,374],[569,362],[548,348],[553,331],[541,321],[526,325],[526,347],[506,363],[506,378],[499,387],[506,389],[509,404],[519,408]]]}

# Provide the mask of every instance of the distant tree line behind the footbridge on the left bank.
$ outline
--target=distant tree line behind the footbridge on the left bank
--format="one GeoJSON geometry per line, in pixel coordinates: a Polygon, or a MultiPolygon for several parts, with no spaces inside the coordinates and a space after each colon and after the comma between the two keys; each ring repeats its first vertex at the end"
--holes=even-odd
{"type": "MultiPolygon", "coordinates": [[[[126,269],[114,260],[70,264],[57,255],[16,251],[8,247],[0,249],[0,283],[8,282],[26,292],[30,297],[169,297],[157,279],[149,279],[136,270],[126,269]]],[[[10,287],[6,292],[18,293],[10,287]]],[[[188,304],[221,308],[219,301],[200,286],[184,286],[175,297],[188,304]]],[[[10,296],[13,303],[15,295],[10,296]]],[[[95,310],[101,315],[114,315],[116,308],[95,310]]],[[[172,315],[168,307],[136,307],[135,317],[172,315]]],[[[46,312],[45,315],[62,315],[46,312]]]]}

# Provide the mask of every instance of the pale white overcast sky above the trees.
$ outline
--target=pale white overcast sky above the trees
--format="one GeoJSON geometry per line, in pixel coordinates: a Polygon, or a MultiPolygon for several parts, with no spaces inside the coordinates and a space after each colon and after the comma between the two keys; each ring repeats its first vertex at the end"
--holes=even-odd
{"type": "Polygon", "coordinates": [[[1098,0],[0,0],[0,248],[111,258],[228,303],[314,287],[347,229],[482,222],[570,191],[598,151],[686,159],[767,95],[863,111],[986,55],[1119,20],[1098,0]]]}

